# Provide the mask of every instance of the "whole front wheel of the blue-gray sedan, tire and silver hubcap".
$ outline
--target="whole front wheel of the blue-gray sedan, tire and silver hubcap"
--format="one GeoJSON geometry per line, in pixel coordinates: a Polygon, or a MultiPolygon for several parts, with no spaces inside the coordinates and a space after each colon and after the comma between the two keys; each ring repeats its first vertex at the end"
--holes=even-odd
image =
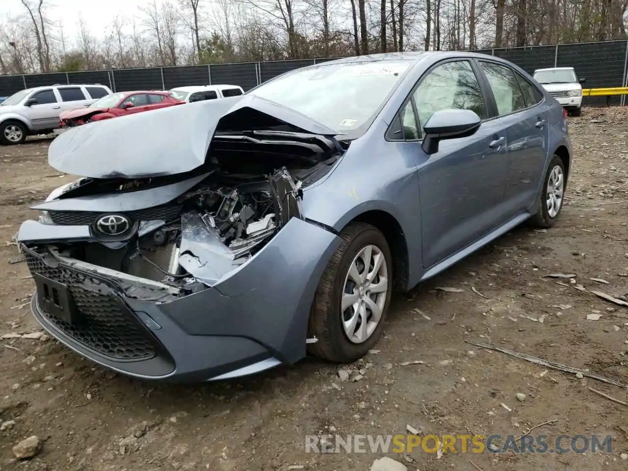
{"type": "Polygon", "coordinates": [[[386,237],[364,222],[340,233],[342,242],[318,284],[308,325],[311,354],[337,363],[363,357],[381,337],[393,288],[386,237]]]}

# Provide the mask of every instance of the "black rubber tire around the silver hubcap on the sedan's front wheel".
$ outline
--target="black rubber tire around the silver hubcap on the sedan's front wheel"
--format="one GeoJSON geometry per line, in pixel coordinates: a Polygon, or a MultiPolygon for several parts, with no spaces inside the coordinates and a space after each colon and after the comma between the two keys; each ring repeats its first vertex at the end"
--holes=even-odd
{"type": "Polygon", "coordinates": [[[325,268],[312,303],[308,337],[316,337],[318,342],[308,344],[308,351],[332,362],[351,363],[367,354],[381,337],[393,291],[393,259],[386,237],[370,224],[350,224],[342,230],[340,237],[342,242],[325,268]],[[388,287],[379,324],[367,340],[355,344],[349,340],[342,326],[341,298],[350,265],[355,256],[369,245],[377,246],[384,256],[388,287]]]}

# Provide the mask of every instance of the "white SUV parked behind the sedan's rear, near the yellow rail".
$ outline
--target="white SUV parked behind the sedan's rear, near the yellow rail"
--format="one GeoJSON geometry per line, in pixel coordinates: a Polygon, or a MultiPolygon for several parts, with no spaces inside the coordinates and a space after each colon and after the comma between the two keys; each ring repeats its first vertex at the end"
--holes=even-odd
{"type": "Polygon", "coordinates": [[[543,85],[558,102],[573,116],[582,112],[582,85],[573,67],[539,68],[534,70],[534,80],[543,85]]]}

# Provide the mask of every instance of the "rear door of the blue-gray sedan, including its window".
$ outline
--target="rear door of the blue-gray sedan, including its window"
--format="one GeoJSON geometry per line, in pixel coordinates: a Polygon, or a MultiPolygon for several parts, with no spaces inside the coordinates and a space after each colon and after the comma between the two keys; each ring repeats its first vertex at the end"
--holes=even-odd
{"type": "Polygon", "coordinates": [[[502,205],[514,217],[529,209],[548,153],[549,107],[543,94],[514,68],[478,61],[497,108],[495,121],[506,131],[508,169],[502,205]]]}

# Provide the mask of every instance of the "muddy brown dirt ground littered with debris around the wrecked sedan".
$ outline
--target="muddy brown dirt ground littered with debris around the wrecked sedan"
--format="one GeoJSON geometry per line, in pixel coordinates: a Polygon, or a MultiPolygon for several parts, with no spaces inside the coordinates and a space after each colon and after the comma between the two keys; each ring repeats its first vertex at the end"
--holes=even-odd
{"type": "MultiPolygon", "coordinates": [[[[512,230],[395,296],[379,352],[347,367],[352,379],[362,369],[359,381],[306,359],[237,381],[172,386],[114,374],[50,339],[0,340],[0,470],[369,470],[381,452],[306,453],[305,436],[394,435],[407,425],[520,436],[547,421],[532,433],[548,435],[550,448],[561,434],[611,435],[612,450],[386,456],[409,471],[627,469],[628,406],[588,387],[628,401],[625,388],[465,342],[628,384],[628,308],[590,292],[628,291],[628,109],[586,109],[569,126],[575,156],[556,227],[512,230]],[[556,273],[574,276],[544,277],[556,273]],[[425,364],[403,364],[414,360],[425,364]],[[12,448],[31,435],[43,448],[18,462],[12,448]]],[[[10,241],[28,205],[72,179],[48,166],[49,143],[0,148],[0,334],[40,330],[24,305],[33,281],[10,241]]]]}

